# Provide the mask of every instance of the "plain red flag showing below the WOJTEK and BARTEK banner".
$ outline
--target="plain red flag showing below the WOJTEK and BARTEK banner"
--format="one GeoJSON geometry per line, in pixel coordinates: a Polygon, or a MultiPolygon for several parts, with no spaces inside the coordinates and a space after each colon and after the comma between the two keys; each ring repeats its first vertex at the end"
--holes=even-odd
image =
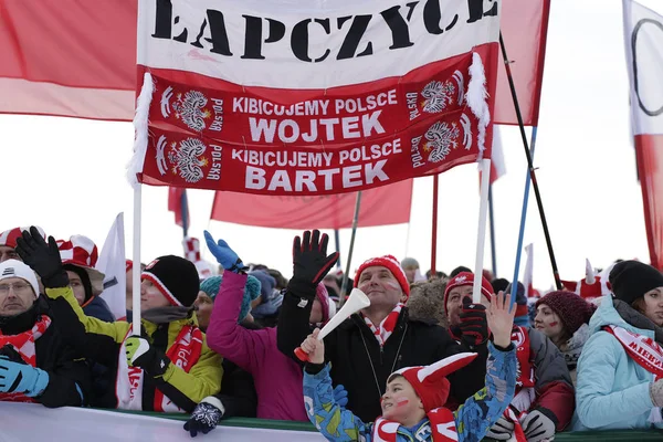
{"type": "MultiPolygon", "coordinates": [[[[347,229],[352,227],[356,196],[270,197],[217,192],[211,219],[280,229],[347,229]]],[[[412,180],[366,190],[358,227],[410,222],[412,180]]]]}

